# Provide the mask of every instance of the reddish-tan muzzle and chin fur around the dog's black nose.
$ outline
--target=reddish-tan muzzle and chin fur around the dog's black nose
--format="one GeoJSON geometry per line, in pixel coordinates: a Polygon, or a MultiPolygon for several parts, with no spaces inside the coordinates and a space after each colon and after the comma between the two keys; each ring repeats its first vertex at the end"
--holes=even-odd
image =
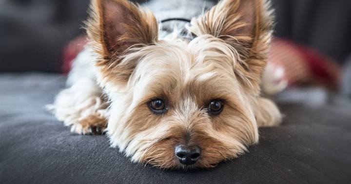
{"type": "Polygon", "coordinates": [[[213,138],[202,139],[201,156],[195,164],[181,164],[175,155],[177,139],[165,139],[150,146],[141,158],[141,163],[161,169],[172,170],[197,170],[209,169],[217,166],[222,161],[237,158],[245,152],[246,148],[241,145],[225,145],[213,138]]]}

